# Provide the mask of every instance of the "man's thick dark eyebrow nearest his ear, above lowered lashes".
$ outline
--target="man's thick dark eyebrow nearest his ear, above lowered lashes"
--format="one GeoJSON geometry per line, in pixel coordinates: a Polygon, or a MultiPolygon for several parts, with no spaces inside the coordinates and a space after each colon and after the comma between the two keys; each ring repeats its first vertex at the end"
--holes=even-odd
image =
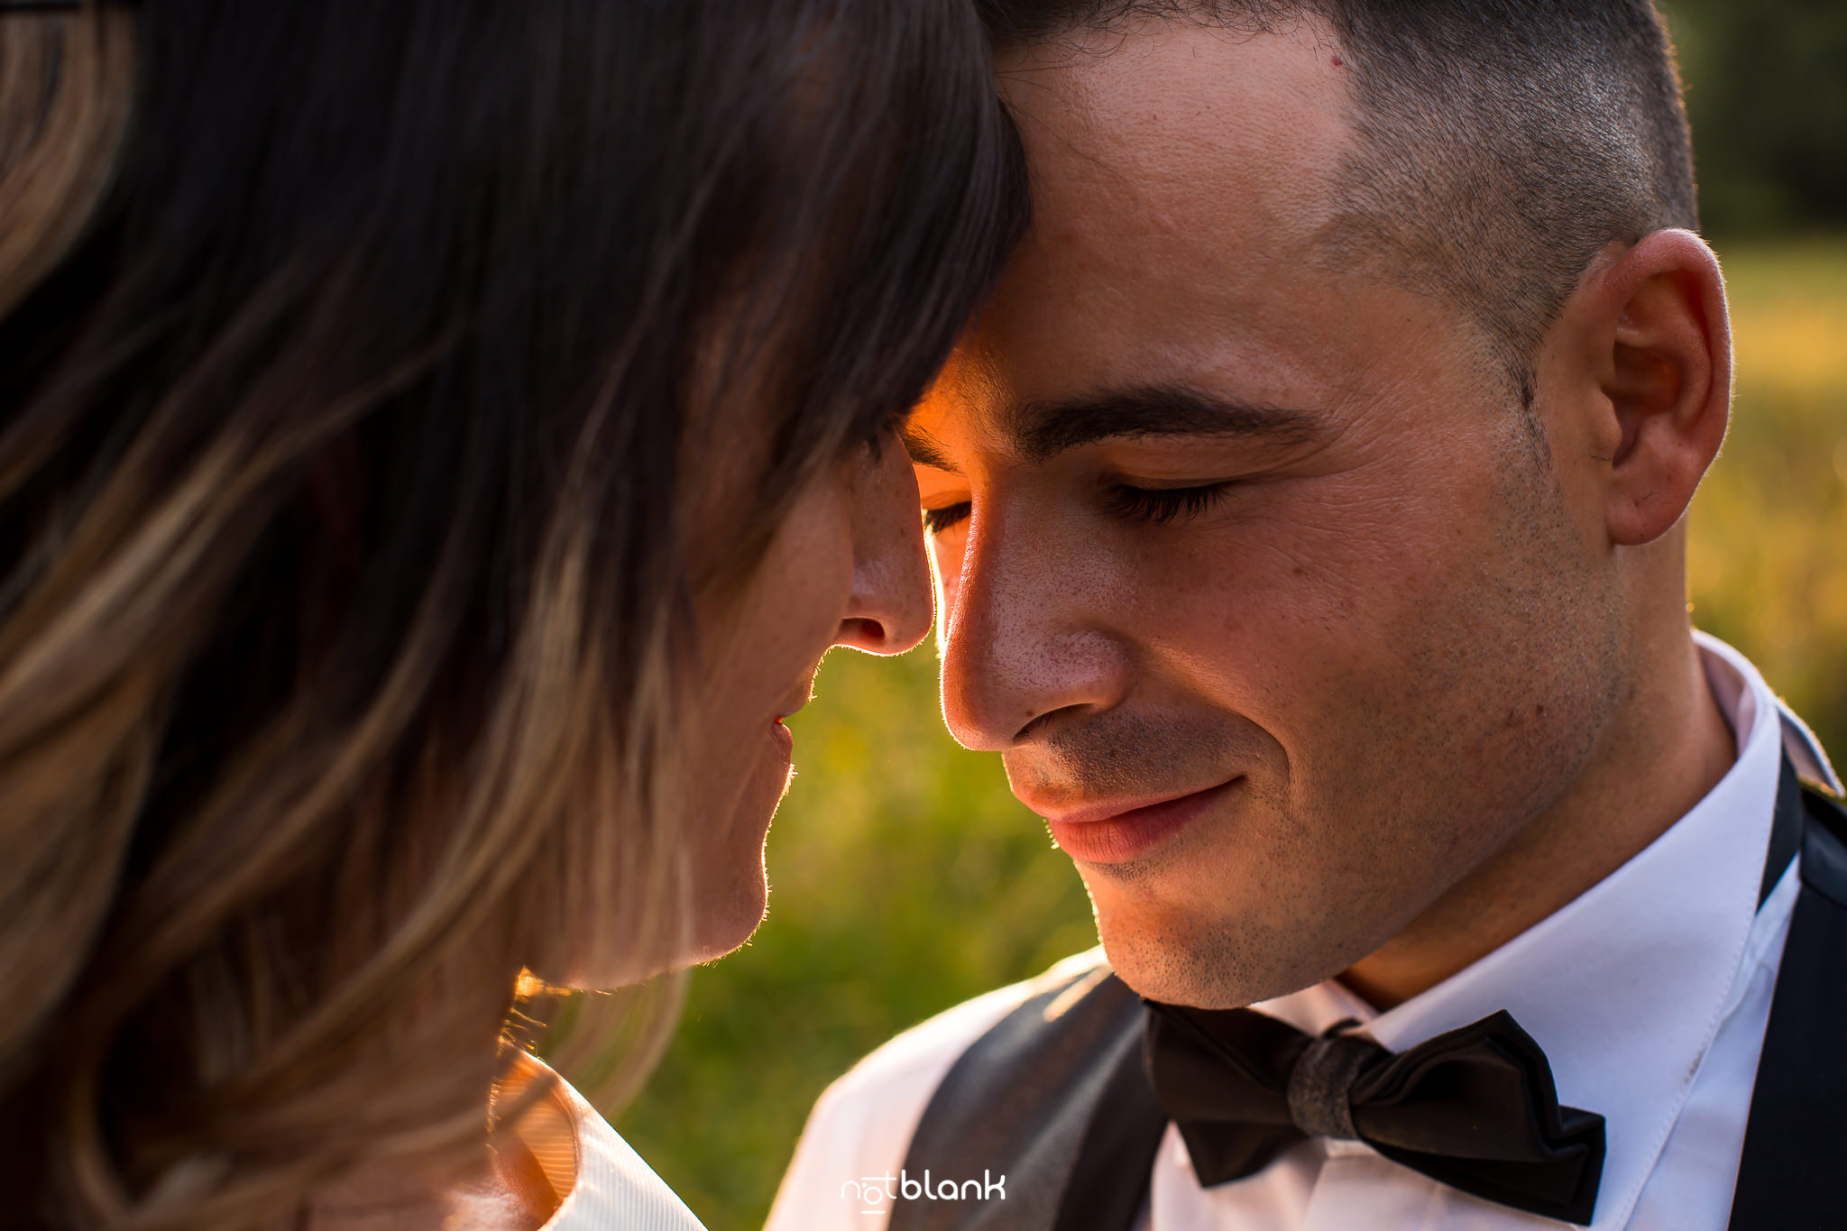
{"type": "Polygon", "coordinates": [[[1021,458],[1038,463],[1114,437],[1239,436],[1300,445],[1324,424],[1326,415],[1313,410],[1241,402],[1184,384],[1145,384],[1027,402],[1008,415],[1008,436],[1021,458]]]}

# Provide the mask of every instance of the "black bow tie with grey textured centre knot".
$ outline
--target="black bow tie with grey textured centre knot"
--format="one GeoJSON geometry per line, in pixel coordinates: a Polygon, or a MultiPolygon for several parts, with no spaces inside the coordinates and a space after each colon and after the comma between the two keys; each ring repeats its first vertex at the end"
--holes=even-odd
{"type": "Polygon", "coordinates": [[[1341,1022],[1310,1037],[1254,1010],[1147,1004],[1147,1063],[1204,1187],[1310,1137],[1513,1209],[1588,1224],[1603,1117],[1561,1107],[1551,1067],[1507,1013],[1387,1052],[1341,1022]]]}

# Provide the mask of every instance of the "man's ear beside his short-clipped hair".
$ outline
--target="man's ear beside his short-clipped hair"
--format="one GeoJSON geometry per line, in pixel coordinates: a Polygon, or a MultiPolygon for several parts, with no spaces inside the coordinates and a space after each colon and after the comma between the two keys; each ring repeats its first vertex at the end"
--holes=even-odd
{"type": "Polygon", "coordinates": [[[1657,231],[1592,275],[1579,334],[1592,347],[1596,436],[1611,543],[1664,535],[1718,456],[1731,413],[1731,321],[1712,249],[1657,231]]]}

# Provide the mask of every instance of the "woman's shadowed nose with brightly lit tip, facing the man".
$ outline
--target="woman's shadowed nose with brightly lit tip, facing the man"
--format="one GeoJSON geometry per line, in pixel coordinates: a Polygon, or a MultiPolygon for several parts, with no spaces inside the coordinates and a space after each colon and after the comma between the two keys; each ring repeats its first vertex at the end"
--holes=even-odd
{"type": "Polygon", "coordinates": [[[837,646],[903,653],[929,633],[933,596],[918,482],[903,450],[887,443],[853,478],[853,591],[837,646]]]}

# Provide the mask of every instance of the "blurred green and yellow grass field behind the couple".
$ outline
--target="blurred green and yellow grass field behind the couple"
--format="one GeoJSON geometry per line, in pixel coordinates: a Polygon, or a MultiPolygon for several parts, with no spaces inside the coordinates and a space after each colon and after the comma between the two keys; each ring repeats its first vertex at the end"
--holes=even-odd
{"type": "MultiPolygon", "coordinates": [[[[1725,450],[1692,511],[1694,620],[1847,757],[1847,238],[1721,253],[1738,341],[1725,450]]],[[[833,655],[794,720],[770,919],[696,971],[619,1128],[711,1231],[763,1224],[822,1087],[892,1034],[1095,943],[1069,862],[959,749],[929,648],[833,655]]]]}

